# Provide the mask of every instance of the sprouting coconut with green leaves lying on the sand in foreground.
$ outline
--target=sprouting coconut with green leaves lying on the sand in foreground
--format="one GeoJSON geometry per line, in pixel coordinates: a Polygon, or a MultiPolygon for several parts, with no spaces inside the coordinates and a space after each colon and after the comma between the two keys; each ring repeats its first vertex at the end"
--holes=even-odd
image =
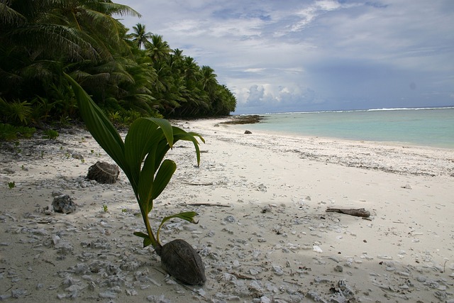
{"type": "Polygon", "coordinates": [[[159,238],[160,228],[166,221],[179,218],[196,224],[194,216],[197,213],[187,211],[166,216],[156,233],[150,226],[148,214],[153,209],[153,201],[159,197],[177,170],[173,160],[164,159],[167,151],[179,140],[191,141],[194,143],[199,165],[200,149],[196,137],[202,142],[204,138],[197,133],[172,126],[165,119],[139,118],[131,124],[123,142],[114,125],[87,92],[72,77],[66,74],[65,77],[72,85],[80,115],[87,129],[131,182],[145,224],[145,232],[135,232],[135,236],[143,238],[144,247],[153,246],[161,257],[162,267],[170,275],[187,284],[203,284],[206,281],[204,265],[194,248],[180,239],[162,246],[159,238]]]}

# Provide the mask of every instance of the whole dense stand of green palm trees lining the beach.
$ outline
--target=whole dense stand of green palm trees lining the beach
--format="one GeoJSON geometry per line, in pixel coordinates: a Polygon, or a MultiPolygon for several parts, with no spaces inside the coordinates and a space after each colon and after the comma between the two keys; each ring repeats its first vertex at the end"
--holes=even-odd
{"type": "MultiPolygon", "coordinates": [[[[78,119],[65,74],[114,123],[139,116],[219,116],[236,99],[214,70],[172,50],[110,0],[0,0],[0,123],[40,126],[78,119]]],[[[1,124],[6,125],[6,124],[1,124]]]]}

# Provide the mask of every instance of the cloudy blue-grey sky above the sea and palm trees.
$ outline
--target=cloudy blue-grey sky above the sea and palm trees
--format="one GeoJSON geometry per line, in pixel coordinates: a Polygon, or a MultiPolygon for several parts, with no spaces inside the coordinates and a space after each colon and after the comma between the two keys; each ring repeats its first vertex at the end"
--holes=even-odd
{"type": "Polygon", "coordinates": [[[454,106],[453,0],[114,0],[237,99],[233,114],[454,106]]]}

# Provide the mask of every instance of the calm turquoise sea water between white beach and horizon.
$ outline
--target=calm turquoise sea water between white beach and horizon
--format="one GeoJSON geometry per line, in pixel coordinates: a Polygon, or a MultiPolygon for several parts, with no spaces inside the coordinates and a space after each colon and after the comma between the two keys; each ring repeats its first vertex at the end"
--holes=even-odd
{"type": "Polygon", "coordinates": [[[265,114],[250,131],[454,148],[454,108],[265,114]]]}

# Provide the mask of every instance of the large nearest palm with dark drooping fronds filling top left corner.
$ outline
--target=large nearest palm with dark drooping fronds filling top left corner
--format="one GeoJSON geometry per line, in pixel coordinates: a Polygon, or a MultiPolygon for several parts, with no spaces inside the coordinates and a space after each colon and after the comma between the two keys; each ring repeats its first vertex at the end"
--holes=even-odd
{"type": "MultiPolygon", "coordinates": [[[[111,65],[118,54],[132,55],[126,28],[113,17],[123,14],[140,16],[110,0],[1,1],[2,96],[43,96],[50,84],[67,85],[64,70],[87,75],[87,67],[111,65]]],[[[107,77],[106,72],[99,76],[107,77]]]]}

